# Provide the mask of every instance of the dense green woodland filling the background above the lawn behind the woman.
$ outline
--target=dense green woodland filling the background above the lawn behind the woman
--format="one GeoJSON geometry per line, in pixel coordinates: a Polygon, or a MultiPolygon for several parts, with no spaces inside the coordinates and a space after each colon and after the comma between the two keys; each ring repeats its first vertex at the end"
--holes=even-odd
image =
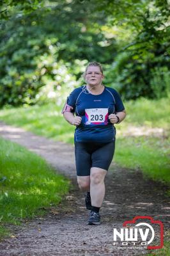
{"type": "Polygon", "coordinates": [[[62,100],[88,61],[126,100],[167,97],[168,2],[1,1],[0,106],[62,100]]]}

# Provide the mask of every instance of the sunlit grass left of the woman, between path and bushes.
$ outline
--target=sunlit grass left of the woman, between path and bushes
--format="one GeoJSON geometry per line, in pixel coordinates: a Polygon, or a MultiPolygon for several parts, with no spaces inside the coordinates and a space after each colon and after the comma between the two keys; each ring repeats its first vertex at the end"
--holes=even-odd
{"type": "Polygon", "coordinates": [[[73,142],[74,127],[66,124],[61,107],[55,104],[4,109],[0,111],[0,120],[47,138],[73,142]]]}

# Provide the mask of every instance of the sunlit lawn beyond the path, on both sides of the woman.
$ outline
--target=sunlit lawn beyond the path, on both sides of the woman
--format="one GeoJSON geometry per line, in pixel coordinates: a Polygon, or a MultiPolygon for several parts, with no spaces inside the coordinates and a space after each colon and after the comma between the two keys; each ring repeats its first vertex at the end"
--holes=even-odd
{"type": "MultiPolygon", "coordinates": [[[[169,182],[169,99],[138,99],[125,102],[127,117],[117,125],[116,154],[114,160],[120,166],[141,168],[153,179],[169,182]],[[131,127],[162,128],[165,138],[152,136],[123,136],[131,127]]],[[[61,115],[61,106],[46,104],[29,108],[12,108],[0,111],[0,120],[23,127],[27,131],[73,143],[74,128],[61,115]]]]}

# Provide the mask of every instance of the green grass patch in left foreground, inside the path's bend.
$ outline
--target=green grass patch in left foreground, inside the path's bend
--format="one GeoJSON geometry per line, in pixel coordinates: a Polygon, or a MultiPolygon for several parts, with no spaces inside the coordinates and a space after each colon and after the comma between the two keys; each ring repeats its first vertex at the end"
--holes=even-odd
{"type": "Polygon", "coordinates": [[[16,143],[0,139],[0,234],[6,224],[42,216],[42,207],[57,205],[70,182],[41,157],[16,143]]]}

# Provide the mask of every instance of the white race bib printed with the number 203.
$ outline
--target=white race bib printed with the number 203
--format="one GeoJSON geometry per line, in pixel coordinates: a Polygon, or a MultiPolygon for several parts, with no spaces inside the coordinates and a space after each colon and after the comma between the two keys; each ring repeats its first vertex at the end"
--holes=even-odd
{"type": "Polygon", "coordinates": [[[85,109],[85,124],[107,125],[108,108],[85,109]]]}

